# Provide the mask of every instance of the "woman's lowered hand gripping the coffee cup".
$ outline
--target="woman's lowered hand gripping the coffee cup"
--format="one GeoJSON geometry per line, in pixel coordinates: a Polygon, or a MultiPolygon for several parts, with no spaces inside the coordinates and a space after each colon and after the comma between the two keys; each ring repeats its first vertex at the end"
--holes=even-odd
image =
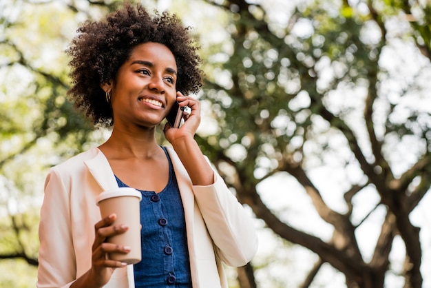
{"type": "Polygon", "coordinates": [[[111,214],[94,225],[92,267],[70,287],[103,287],[116,268],[127,265],[127,263],[107,258],[107,254],[112,252],[127,254],[130,251],[130,247],[105,242],[108,237],[123,234],[129,229],[127,225],[112,225],[115,219],[116,214],[111,214]]]}

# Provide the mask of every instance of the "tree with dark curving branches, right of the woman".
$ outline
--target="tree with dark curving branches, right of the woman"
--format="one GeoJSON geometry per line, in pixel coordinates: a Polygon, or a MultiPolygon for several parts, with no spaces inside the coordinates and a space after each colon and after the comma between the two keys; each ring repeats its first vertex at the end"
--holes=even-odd
{"type": "Polygon", "coordinates": [[[420,228],[410,214],[431,184],[430,109],[420,105],[427,96],[421,81],[431,68],[430,4],[308,1],[284,10],[277,22],[280,11],[270,14],[271,3],[207,2],[231,15],[231,50],[224,50],[223,59],[229,61],[210,64],[219,64],[229,80],[220,81],[220,73],[214,73],[206,83],[205,99],[213,103],[220,129],[200,144],[257,218],[319,256],[302,287],[311,285],[322,263],[344,274],[348,287],[383,287],[396,238],[406,249],[404,287],[421,287],[420,228]],[[417,74],[395,74],[406,65],[400,54],[388,63],[396,52],[411,53],[417,74]],[[328,179],[312,174],[333,164],[359,175],[349,179],[343,173],[338,179],[344,211],[325,200],[322,181],[328,179]],[[330,240],[290,225],[262,200],[266,192],[258,185],[279,174],[302,185],[317,214],[332,227],[330,240]],[[378,196],[375,207],[355,219],[355,199],[370,190],[378,196]],[[357,230],[382,209],[381,232],[366,260],[357,230]]]}

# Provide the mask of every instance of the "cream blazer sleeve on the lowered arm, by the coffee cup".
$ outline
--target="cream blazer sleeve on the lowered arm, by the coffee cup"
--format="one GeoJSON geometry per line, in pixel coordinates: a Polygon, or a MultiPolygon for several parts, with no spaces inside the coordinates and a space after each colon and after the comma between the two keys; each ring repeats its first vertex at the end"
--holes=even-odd
{"type": "Polygon", "coordinates": [[[55,168],[45,180],[39,223],[39,267],[36,287],[70,287],[76,278],[70,195],[55,168]]]}

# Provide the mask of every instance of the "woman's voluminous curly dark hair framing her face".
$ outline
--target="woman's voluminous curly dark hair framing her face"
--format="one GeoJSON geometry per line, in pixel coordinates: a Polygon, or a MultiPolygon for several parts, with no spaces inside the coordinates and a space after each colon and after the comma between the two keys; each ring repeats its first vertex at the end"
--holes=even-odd
{"type": "Polygon", "coordinates": [[[71,56],[72,88],[67,92],[78,110],[94,125],[113,125],[112,109],[105,100],[101,83],[116,79],[116,74],[136,45],[154,42],[166,45],[176,59],[176,90],[196,93],[202,87],[199,47],[175,14],[165,11],[151,16],[145,8],[125,3],[101,21],[86,21],[66,53],[71,56]]]}

